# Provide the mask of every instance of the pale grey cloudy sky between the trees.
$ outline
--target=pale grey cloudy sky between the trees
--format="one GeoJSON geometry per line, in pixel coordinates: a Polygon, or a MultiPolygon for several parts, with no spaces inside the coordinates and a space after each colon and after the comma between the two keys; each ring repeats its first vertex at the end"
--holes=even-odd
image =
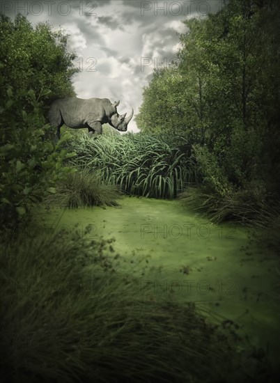
{"type": "MultiPolygon", "coordinates": [[[[69,50],[77,53],[73,78],[77,97],[120,100],[119,113],[137,114],[143,86],[157,66],[176,60],[182,20],[205,17],[223,0],[49,0],[0,1],[1,13],[26,15],[32,24],[49,22],[70,34],[69,50]]],[[[137,132],[132,119],[128,131],[137,132]]]]}

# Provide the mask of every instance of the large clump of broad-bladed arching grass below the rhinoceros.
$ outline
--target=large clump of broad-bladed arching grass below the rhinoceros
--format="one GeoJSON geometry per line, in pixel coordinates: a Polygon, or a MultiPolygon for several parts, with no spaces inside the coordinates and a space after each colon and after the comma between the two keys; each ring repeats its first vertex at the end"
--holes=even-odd
{"type": "Polygon", "coordinates": [[[75,152],[75,164],[100,169],[105,183],[129,194],[173,198],[197,178],[194,161],[160,137],[125,134],[93,140],[84,134],[75,152]]]}

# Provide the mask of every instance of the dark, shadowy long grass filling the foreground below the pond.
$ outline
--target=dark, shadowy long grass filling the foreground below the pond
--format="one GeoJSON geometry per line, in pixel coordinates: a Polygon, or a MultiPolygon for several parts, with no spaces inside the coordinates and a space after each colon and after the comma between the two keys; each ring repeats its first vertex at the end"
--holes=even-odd
{"type": "Polygon", "coordinates": [[[39,229],[1,236],[3,382],[270,380],[257,352],[231,347],[233,329],[117,275],[112,240],[39,229]]]}

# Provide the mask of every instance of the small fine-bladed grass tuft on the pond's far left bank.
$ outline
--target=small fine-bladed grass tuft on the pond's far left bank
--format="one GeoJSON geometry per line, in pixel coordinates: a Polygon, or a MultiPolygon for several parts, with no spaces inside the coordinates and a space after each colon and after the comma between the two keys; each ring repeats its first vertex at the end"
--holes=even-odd
{"type": "Polygon", "coordinates": [[[109,205],[115,206],[119,198],[118,189],[113,185],[104,185],[100,171],[93,169],[78,169],[68,173],[65,179],[56,185],[56,193],[47,201],[69,208],[84,206],[109,205]]]}

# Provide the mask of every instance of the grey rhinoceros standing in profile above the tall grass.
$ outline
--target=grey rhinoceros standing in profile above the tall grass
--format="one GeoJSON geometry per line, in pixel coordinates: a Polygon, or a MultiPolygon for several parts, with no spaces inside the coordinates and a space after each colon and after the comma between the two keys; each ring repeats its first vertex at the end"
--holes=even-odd
{"type": "Polygon", "coordinates": [[[73,129],[87,127],[89,134],[102,134],[102,124],[109,123],[116,130],[126,132],[134,111],[132,109],[130,116],[125,118],[126,113],[118,114],[118,104],[120,101],[111,103],[107,98],[61,98],[55,100],[49,108],[49,123],[56,127],[58,139],[63,124],[73,129]]]}

